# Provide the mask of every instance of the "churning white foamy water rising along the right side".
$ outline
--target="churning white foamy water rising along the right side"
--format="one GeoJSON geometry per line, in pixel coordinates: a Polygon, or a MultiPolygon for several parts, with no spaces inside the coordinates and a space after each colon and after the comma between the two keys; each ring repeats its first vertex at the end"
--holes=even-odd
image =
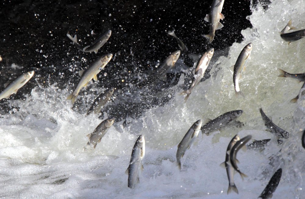
{"type": "MultiPolygon", "coordinates": [[[[305,149],[299,132],[305,128],[305,98],[289,102],[298,95],[302,83],[277,77],[276,70],[304,72],[305,39],[288,45],[279,34],[290,19],[293,26],[305,27],[304,7],[305,0],[253,5],[249,16],[253,28],[242,31],[244,41],[234,43],[228,56],[212,58],[211,77],[199,83],[187,103],[178,95],[184,84],[181,75],[171,92],[164,90],[169,102],[145,110],[140,117],[128,117],[124,124],[115,123],[95,150],[84,150],[86,135],[108,116],[106,112],[102,118],[95,114],[86,116],[71,109],[66,97],[72,86],[59,89],[56,84],[47,88],[37,85],[24,97],[26,100],[9,100],[11,107],[18,108],[0,118],[0,197],[257,198],[273,173],[282,168],[273,198],[304,198],[305,149]],[[253,50],[239,81],[245,98],[236,97],[229,68],[249,42],[253,50]],[[277,145],[274,136],[265,131],[260,107],[276,125],[290,133],[282,145],[277,145]],[[198,119],[213,119],[237,109],[243,110],[239,120],[245,125],[228,126],[209,136],[199,132],[182,158],[179,171],[177,145],[190,126],[198,119]],[[252,135],[256,140],[271,138],[271,142],[263,151],[239,151],[239,168],[248,177],[242,181],[235,174],[239,195],[227,195],[227,173],[219,165],[237,133],[240,137],[252,135]],[[127,187],[128,176],[124,173],[139,134],[146,140],[144,170],[133,190],[127,187]]],[[[177,63],[178,68],[182,67],[179,60],[177,63]]],[[[128,95],[121,91],[108,105],[115,105],[128,95]]]]}

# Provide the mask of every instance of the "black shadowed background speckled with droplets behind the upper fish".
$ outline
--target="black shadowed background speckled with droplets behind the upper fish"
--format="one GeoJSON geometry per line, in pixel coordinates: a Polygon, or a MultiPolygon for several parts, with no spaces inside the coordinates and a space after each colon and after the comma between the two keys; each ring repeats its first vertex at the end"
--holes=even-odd
{"type": "MultiPolygon", "coordinates": [[[[113,53],[112,60],[98,77],[99,84],[123,89],[128,83],[138,84],[135,74],[153,70],[157,60],[162,62],[179,49],[177,40],[167,34],[173,29],[188,47],[180,57],[192,67],[190,54],[202,54],[211,47],[222,51],[234,42],[241,42],[240,31],[251,27],[246,20],[251,15],[250,1],[225,0],[224,27],[216,31],[213,43],[209,44],[203,35],[209,33],[209,23],[204,17],[210,12],[211,4],[212,0],[3,1],[0,4],[0,56],[3,58],[0,84],[34,70],[41,85],[56,81],[59,87],[65,88],[69,82],[77,84],[76,72],[92,60],[113,53]],[[79,43],[86,46],[107,30],[112,30],[112,35],[97,54],[79,51],[66,37],[67,33],[77,34],[79,43]],[[12,63],[23,68],[13,69],[12,63]]],[[[14,98],[22,97],[34,86],[37,82],[29,81],[14,98]]]]}

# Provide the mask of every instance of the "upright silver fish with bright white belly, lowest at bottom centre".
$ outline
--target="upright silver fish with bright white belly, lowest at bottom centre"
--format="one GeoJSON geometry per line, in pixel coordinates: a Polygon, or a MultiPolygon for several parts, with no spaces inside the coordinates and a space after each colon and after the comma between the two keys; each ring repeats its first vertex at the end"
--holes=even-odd
{"type": "Polygon", "coordinates": [[[145,139],[143,135],[140,135],[135,142],[135,145],[132,149],[131,158],[129,166],[126,170],[128,174],[128,187],[131,189],[135,188],[135,185],[140,182],[140,175],[144,169],[142,165],[142,160],[145,156],[145,139]]]}

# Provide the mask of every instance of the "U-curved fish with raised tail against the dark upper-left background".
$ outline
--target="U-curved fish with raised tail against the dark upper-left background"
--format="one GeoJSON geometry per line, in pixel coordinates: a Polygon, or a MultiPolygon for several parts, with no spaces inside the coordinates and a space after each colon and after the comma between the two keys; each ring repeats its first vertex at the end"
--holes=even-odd
{"type": "Polygon", "coordinates": [[[83,52],[95,52],[97,53],[98,50],[108,41],[111,36],[111,30],[106,31],[102,36],[100,36],[95,42],[91,45],[86,47],[82,47],[79,43],[77,43],[77,36],[76,34],[72,37],[70,34],[67,34],[67,37],[74,42],[74,45],[83,52]]]}

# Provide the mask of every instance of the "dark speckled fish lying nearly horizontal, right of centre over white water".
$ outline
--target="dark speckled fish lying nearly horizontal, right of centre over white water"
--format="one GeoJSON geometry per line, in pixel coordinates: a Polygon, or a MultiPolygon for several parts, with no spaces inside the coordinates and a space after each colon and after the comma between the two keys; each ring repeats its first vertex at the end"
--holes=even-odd
{"type": "MultiPolygon", "coordinates": [[[[242,112],[242,110],[232,110],[218,116],[213,120],[207,118],[206,124],[201,127],[202,134],[205,133],[208,136],[211,132],[220,130],[230,122],[235,121],[236,118],[241,116],[242,112]]],[[[240,127],[241,125],[243,124],[240,122],[240,127]]]]}

